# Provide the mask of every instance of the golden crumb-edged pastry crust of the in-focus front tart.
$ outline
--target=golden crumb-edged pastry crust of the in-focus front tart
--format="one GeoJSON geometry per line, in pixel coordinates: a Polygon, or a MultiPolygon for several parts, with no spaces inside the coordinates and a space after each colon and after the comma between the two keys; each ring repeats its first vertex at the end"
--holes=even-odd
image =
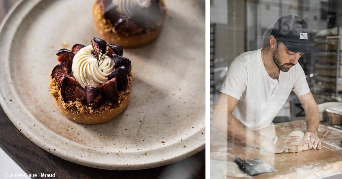
{"type": "Polygon", "coordinates": [[[66,118],[81,124],[100,124],[107,122],[120,115],[128,106],[131,98],[133,79],[129,77],[129,88],[126,91],[119,91],[117,104],[107,102],[97,109],[84,105],[80,101],[63,101],[61,89],[56,79],[50,77],[49,89],[55,106],[66,118]]]}

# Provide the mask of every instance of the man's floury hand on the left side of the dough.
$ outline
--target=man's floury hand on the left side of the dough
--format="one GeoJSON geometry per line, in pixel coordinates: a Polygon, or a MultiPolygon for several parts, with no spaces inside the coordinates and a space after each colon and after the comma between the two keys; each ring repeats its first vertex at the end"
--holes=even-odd
{"type": "Polygon", "coordinates": [[[293,149],[298,146],[307,145],[310,141],[299,136],[279,137],[273,145],[267,145],[264,149],[271,153],[282,153],[286,150],[295,152],[293,149]]]}

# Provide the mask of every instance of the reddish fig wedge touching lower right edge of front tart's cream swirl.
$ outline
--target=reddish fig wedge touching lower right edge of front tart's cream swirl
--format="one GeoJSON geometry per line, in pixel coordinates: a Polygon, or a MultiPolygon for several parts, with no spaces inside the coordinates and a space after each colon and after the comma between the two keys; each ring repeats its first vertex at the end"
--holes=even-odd
{"type": "Polygon", "coordinates": [[[101,90],[104,97],[113,102],[117,103],[119,101],[119,93],[116,85],[116,78],[112,78],[98,87],[101,90]]]}

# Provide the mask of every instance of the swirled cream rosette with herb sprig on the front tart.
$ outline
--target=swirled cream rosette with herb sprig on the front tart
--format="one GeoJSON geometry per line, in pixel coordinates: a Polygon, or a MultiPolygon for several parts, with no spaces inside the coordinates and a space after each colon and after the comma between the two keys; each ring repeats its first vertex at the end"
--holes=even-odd
{"type": "Polygon", "coordinates": [[[114,61],[106,55],[103,62],[98,65],[90,45],[75,54],[71,69],[74,78],[83,88],[87,85],[96,88],[108,81],[107,76],[114,71],[114,61]]]}

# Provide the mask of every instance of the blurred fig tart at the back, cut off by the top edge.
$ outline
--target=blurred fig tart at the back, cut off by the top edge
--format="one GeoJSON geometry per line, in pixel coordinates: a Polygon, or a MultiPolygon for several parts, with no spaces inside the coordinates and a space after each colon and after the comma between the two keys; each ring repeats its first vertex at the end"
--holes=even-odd
{"type": "Polygon", "coordinates": [[[93,19],[100,37],[123,47],[156,39],[166,16],[163,0],[95,0],[93,19]]]}

